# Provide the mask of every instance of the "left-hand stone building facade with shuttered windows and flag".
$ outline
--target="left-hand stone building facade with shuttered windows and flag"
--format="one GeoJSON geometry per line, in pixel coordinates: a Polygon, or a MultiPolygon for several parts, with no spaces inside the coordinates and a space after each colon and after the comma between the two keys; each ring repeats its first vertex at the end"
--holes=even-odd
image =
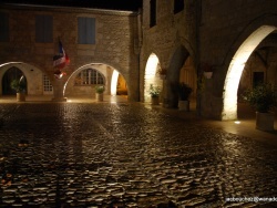
{"type": "Polygon", "coordinates": [[[3,87],[9,87],[7,83],[4,85],[3,77],[7,71],[13,67],[24,74],[29,95],[51,94],[44,91],[44,79],[52,84],[53,100],[63,101],[66,95],[93,97],[93,86],[98,83],[78,84],[76,82],[80,73],[86,76],[88,74],[82,71],[90,69],[96,71],[96,75],[103,76],[106,94],[111,93],[112,76],[117,72],[127,85],[129,100],[138,100],[138,83],[134,82],[138,74],[137,13],[9,4],[1,6],[0,12],[1,20],[6,21],[2,27],[8,27],[9,34],[7,40],[0,42],[2,81],[0,94],[4,94],[3,87]],[[51,18],[52,39],[50,41],[37,40],[38,17],[51,18]],[[93,29],[95,38],[92,44],[79,42],[79,18],[88,18],[95,22],[93,29]],[[55,79],[54,72],[58,69],[53,66],[53,55],[59,52],[59,39],[70,59],[70,64],[62,69],[66,74],[62,79],[55,79]]]}

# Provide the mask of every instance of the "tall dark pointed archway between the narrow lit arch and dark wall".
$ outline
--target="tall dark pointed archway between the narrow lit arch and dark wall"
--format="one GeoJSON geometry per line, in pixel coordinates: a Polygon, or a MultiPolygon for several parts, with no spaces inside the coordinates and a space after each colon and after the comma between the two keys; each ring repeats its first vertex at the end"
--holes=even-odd
{"type": "Polygon", "coordinates": [[[179,82],[179,71],[188,56],[189,52],[183,45],[179,45],[172,55],[166,76],[166,93],[164,98],[166,107],[175,108],[178,105],[178,95],[174,90],[174,85],[179,82]]]}

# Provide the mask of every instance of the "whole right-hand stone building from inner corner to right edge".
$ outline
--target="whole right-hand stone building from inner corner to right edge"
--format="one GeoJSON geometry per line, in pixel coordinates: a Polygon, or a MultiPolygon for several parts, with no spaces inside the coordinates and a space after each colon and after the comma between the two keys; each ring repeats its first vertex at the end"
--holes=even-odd
{"type": "MultiPolygon", "coordinates": [[[[176,107],[172,84],[183,79],[181,72],[188,65],[187,83],[196,93],[198,113],[236,119],[245,89],[257,80],[277,85],[276,15],[274,0],[145,0],[141,69],[151,53],[156,54],[166,70],[163,104],[176,107]],[[179,2],[183,9],[175,12],[179,2]],[[212,79],[205,77],[206,70],[213,71],[212,79]]],[[[147,70],[141,70],[143,74],[147,75],[147,70]]],[[[141,92],[146,82],[147,77],[141,81],[141,92]]]]}

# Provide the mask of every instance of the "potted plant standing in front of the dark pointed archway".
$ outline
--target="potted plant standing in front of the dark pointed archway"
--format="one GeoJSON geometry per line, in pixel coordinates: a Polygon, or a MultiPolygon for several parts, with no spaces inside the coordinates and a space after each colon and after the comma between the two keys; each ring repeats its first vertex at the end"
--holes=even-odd
{"type": "Polygon", "coordinates": [[[193,89],[185,84],[184,82],[178,83],[177,93],[178,93],[178,110],[179,111],[189,111],[189,95],[192,94],[193,89]]]}

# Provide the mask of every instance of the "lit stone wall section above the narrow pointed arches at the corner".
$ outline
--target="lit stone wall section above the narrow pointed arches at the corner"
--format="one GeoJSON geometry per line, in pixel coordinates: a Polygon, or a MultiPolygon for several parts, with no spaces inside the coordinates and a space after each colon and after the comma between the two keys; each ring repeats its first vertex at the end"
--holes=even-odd
{"type": "MultiPolygon", "coordinates": [[[[141,54],[141,100],[143,101],[144,73],[147,59],[151,53],[158,58],[161,67],[167,71],[164,81],[164,106],[175,106],[170,90],[171,77],[179,76],[179,71],[185,62],[179,61],[181,51],[196,60],[196,10],[197,2],[185,1],[184,10],[174,13],[174,1],[158,0],[156,3],[156,25],[150,27],[150,1],[143,1],[143,48],[141,54]],[[177,60],[176,60],[177,59],[177,60]],[[175,62],[182,62],[175,69],[175,62]]],[[[194,72],[196,75],[196,72],[194,72]]]]}

